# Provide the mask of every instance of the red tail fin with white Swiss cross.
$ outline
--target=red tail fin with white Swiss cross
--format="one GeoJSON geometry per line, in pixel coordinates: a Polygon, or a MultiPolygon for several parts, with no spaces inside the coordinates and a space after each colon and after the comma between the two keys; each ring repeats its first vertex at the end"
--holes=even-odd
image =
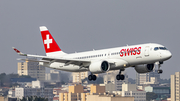
{"type": "Polygon", "coordinates": [[[40,26],[41,36],[47,56],[59,56],[65,53],[59,48],[58,44],[45,26],[40,26]]]}

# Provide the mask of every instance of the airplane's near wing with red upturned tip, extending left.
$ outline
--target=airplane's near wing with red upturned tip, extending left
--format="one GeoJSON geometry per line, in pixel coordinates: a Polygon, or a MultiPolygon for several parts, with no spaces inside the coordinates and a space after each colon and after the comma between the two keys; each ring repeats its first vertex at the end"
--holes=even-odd
{"type": "Polygon", "coordinates": [[[41,55],[31,55],[31,54],[25,54],[20,52],[18,49],[14,48],[17,54],[21,56],[28,56],[28,57],[36,57],[36,58],[42,58],[41,60],[31,60],[31,59],[18,59],[18,60],[24,60],[24,61],[32,61],[32,62],[46,62],[46,63],[53,63],[53,62],[60,62],[65,63],[65,65],[74,64],[81,67],[87,67],[90,65],[91,61],[88,60],[80,60],[80,59],[70,59],[70,58],[57,58],[57,57],[51,57],[51,56],[41,56],[41,55]]]}

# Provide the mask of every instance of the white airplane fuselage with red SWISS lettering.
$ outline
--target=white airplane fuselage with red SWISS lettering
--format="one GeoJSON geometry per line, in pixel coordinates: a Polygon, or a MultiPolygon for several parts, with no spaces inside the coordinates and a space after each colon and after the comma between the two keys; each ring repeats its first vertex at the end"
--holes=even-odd
{"type": "MultiPolygon", "coordinates": [[[[153,64],[158,61],[165,61],[171,57],[171,53],[167,49],[158,49],[156,47],[163,47],[160,44],[139,44],[132,46],[124,46],[117,48],[109,48],[102,50],[93,50],[72,54],[65,54],[62,56],[56,56],[60,58],[71,58],[79,60],[89,60],[89,61],[108,61],[109,63],[114,63],[111,65],[110,70],[119,70],[131,66],[141,65],[141,64],[153,64]]],[[[43,64],[44,66],[70,71],[70,72],[80,72],[88,71],[86,67],[80,67],[77,65],[67,65],[65,63],[53,62],[51,64],[43,64]]],[[[89,64],[87,64],[89,65],[89,64]]]]}

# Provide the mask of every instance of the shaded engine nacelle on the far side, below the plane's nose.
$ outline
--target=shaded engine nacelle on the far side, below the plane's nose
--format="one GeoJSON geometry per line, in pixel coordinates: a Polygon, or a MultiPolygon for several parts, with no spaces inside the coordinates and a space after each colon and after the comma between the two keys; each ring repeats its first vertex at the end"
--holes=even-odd
{"type": "Polygon", "coordinates": [[[148,73],[151,72],[154,68],[154,64],[144,64],[144,65],[136,65],[135,70],[138,73],[148,73]]]}

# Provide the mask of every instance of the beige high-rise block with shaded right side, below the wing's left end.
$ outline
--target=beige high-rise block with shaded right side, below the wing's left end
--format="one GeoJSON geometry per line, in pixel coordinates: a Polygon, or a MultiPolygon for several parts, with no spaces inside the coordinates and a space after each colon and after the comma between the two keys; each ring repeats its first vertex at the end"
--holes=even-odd
{"type": "Polygon", "coordinates": [[[17,72],[19,75],[29,75],[38,80],[45,80],[45,67],[40,66],[38,62],[18,62],[17,72]]]}

